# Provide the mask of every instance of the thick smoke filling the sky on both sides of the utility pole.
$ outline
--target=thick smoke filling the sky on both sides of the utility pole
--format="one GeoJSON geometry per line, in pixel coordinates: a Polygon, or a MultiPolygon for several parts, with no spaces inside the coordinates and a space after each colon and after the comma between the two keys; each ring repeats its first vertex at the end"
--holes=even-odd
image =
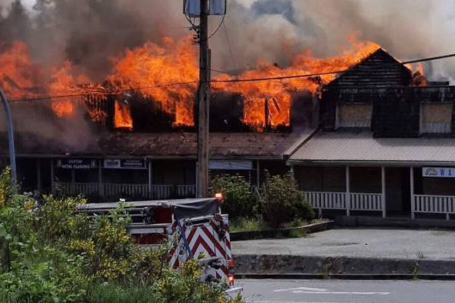
{"type": "MultiPolygon", "coordinates": [[[[159,44],[165,35],[178,39],[192,34],[182,1],[0,0],[0,51],[20,40],[41,66],[69,60],[78,72],[102,82],[112,57],[124,49],[146,41],[159,44]]],[[[319,57],[334,55],[348,47],[346,37],[354,32],[402,60],[453,53],[454,18],[453,0],[228,0],[225,25],[210,40],[212,68],[239,72],[258,59],[286,66],[305,50],[319,57]]],[[[220,21],[210,18],[211,32],[220,21]]],[[[455,60],[425,67],[430,78],[451,79],[455,60]]],[[[47,136],[65,136],[78,125],[54,122],[47,127],[49,120],[21,115],[16,114],[20,129],[45,129],[47,136]]]]}

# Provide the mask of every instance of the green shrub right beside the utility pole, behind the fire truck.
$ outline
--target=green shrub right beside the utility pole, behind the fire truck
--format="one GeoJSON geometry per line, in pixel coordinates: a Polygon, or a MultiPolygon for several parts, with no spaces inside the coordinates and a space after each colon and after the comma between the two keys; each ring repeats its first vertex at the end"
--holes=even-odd
{"type": "Polygon", "coordinates": [[[241,175],[221,175],[210,181],[211,195],[223,195],[223,212],[232,218],[253,216],[254,200],[251,185],[241,175]]]}

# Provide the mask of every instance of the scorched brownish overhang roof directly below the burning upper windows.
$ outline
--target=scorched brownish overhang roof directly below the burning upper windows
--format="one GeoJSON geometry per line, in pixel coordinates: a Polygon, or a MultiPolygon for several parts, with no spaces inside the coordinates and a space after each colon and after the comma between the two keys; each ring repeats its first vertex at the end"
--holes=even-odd
{"type": "MultiPolygon", "coordinates": [[[[313,131],[291,133],[211,133],[210,155],[213,158],[282,159],[292,153],[313,131]]],[[[7,136],[0,137],[3,155],[7,155],[7,136]]],[[[68,138],[36,134],[17,134],[19,156],[93,156],[195,158],[197,134],[104,132],[71,142],[68,138]]]]}

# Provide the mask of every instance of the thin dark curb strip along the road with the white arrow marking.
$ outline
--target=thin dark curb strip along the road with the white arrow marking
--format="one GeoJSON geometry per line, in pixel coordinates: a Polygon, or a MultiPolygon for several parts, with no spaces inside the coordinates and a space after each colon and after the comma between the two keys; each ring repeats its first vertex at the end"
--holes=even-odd
{"type": "Polygon", "coordinates": [[[432,274],[236,274],[236,279],[272,280],[433,280],[455,281],[455,275],[432,274]]]}

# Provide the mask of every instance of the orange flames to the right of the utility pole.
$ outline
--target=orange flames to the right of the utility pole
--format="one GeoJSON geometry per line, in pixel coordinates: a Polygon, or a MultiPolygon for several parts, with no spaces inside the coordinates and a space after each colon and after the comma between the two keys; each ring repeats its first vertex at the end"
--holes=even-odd
{"type": "MultiPolygon", "coordinates": [[[[301,74],[314,74],[332,71],[342,71],[376,51],[380,46],[366,41],[358,42],[355,35],[348,37],[351,49],[343,50],[342,55],[331,58],[315,58],[311,51],[297,55],[291,66],[280,68],[270,62],[259,61],[257,69],[249,70],[239,77],[221,75],[221,80],[275,78],[301,74]]],[[[328,83],[336,74],[321,75],[323,83],[328,83]]],[[[261,130],[266,126],[266,111],[264,100],[269,101],[270,126],[289,126],[292,93],[297,91],[315,92],[320,86],[319,81],[313,78],[294,78],[275,81],[241,82],[238,85],[216,83],[215,89],[232,91],[244,97],[243,122],[261,130]],[[272,106],[271,106],[272,103],[272,106]]]]}

